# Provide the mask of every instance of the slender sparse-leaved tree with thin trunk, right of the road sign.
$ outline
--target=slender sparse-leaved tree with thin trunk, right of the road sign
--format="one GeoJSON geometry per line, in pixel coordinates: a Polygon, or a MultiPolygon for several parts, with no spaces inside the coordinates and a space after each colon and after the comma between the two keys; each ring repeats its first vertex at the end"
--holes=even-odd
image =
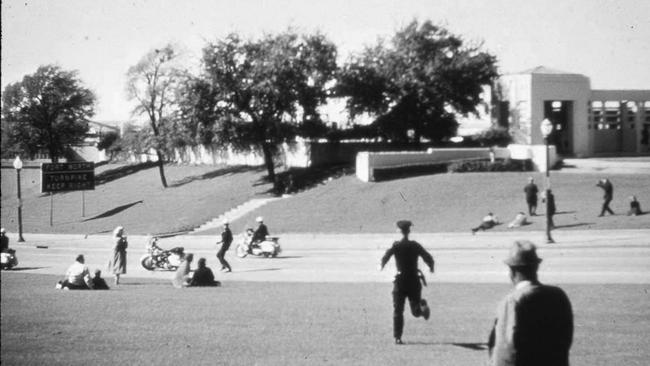
{"type": "Polygon", "coordinates": [[[158,170],[163,187],[165,178],[165,150],[167,139],[173,136],[173,124],[177,110],[179,82],[183,72],[177,67],[179,53],[172,45],[148,52],[127,72],[127,93],[137,102],[134,115],[145,115],[151,134],[151,146],[158,158],[158,170]]]}

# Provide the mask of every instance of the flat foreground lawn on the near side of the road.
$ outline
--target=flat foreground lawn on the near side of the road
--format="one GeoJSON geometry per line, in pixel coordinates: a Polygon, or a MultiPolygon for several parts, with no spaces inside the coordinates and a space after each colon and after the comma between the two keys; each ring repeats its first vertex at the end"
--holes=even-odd
{"type": "MultiPolygon", "coordinates": [[[[406,317],[392,344],[388,283],[228,282],[174,289],[129,279],[110,291],[58,291],[55,276],[2,273],[6,365],[478,365],[507,284],[432,283],[428,322],[406,317]]],[[[567,285],[571,364],[645,365],[647,285],[567,285]]]]}

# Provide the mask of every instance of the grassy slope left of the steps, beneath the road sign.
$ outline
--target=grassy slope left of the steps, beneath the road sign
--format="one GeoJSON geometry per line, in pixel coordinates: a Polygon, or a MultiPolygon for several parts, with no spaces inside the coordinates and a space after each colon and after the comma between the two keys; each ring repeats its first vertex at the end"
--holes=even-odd
{"type": "MultiPolygon", "coordinates": [[[[179,166],[165,168],[169,188],[160,184],[152,165],[97,168],[98,185],[82,193],[55,194],[49,226],[50,197],[40,193],[40,171],[23,169],[23,228],[31,233],[100,233],[123,225],[130,233],[165,233],[193,228],[271,188],[263,172],[250,167],[179,166]]],[[[17,230],[16,178],[2,169],[2,225],[17,230]]]]}

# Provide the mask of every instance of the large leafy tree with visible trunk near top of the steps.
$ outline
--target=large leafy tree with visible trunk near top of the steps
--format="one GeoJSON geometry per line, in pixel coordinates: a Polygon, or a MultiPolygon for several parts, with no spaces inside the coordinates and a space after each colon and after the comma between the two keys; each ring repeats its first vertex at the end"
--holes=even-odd
{"type": "Polygon", "coordinates": [[[292,30],[259,40],[230,34],[203,49],[203,68],[208,88],[195,84],[195,116],[214,122],[216,141],[261,151],[276,184],[278,147],[322,124],[318,107],[335,77],[336,46],[321,34],[292,30]]]}

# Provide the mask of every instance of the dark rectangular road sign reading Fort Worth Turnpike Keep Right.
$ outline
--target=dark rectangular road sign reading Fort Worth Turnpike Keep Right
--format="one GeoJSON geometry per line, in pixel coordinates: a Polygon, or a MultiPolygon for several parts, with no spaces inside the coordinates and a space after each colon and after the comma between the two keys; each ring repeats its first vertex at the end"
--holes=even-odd
{"type": "Polygon", "coordinates": [[[43,163],[41,192],[87,191],[95,189],[95,163],[43,163]]]}

